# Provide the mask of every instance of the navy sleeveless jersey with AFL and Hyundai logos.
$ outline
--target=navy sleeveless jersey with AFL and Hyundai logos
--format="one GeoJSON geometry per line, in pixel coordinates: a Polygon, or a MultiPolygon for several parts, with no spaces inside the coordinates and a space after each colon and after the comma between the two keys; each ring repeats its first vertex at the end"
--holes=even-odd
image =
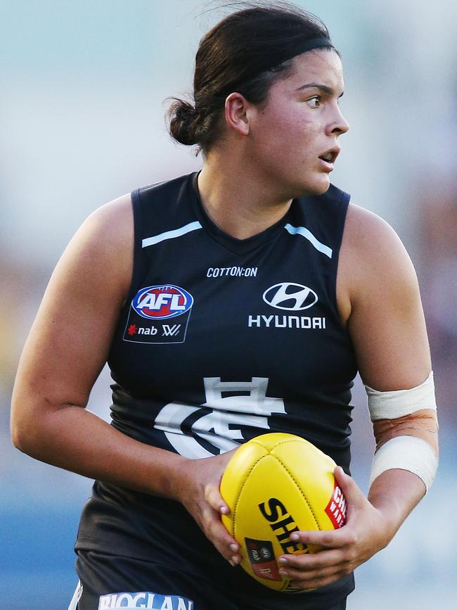
{"type": "MultiPolygon", "coordinates": [[[[348,472],[356,360],[336,274],[349,195],[330,185],[295,199],[279,222],[239,240],[207,216],[197,178],[132,193],[134,272],[108,358],[112,426],[193,459],[289,432],[348,472]]],[[[354,586],[349,576],[285,602],[228,566],[179,503],[101,482],[77,548],[210,573],[266,609],[322,607],[354,586]]]]}

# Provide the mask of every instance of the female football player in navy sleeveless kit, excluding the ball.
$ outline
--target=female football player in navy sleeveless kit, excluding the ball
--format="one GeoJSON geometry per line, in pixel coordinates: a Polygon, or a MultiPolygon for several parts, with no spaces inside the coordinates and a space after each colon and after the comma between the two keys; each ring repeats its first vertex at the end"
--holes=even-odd
{"type": "MultiPolygon", "coordinates": [[[[330,184],[349,126],[340,55],[294,6],[244,8],[200,42],[170,110],[202,170],[96,210],[51,277],[13,396],[15,445],[96,479],[70,609],[343,609],[437,464],[416,274],[394,231],[330,184]],[[86,411],[105,362],[111,425],[86,411]],[[377,451],[349,476],[359,370],[377,451]],[[295,433],[338,464],[347,523],[296,532],[287,595],[238,566],[219,482],[233,450],[295,433]]],[[[363,171],[363,163],[361,163],[363,171]]]]}

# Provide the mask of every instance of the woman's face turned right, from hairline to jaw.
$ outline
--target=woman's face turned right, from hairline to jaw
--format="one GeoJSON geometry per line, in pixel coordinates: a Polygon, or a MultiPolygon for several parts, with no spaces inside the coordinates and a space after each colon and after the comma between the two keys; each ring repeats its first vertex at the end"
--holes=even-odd
{"type": "Polygon", "coordinates": [[[349,129],[338,106],[344,85],[337,53],[302,53],[294,68],[271,86],[266,106],[249,113],[252,163],[291,197],[327,191],[338,136],[349,129]],[[328,151],[330,163],[320,158],[328,151]]]}

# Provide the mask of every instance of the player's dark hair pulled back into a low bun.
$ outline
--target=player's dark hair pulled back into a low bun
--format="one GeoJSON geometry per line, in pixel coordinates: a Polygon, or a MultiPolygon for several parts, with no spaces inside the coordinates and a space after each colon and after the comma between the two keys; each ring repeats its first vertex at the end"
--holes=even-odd
{"type": "Polygon", "coordinates": [[[316,38],[328,38],[321,48],[334,49],[326,25],[297,6],[231,3],[240,5],[248,8],[228,15],[200,41],[193,79],[195,106],[172,98],[168,111],[172,137],[188,146],[198,144],[197,154],[207,154],[220,138],[224,103],[233,91],[250,103],[266,103],[271,85],[292,70],[287,49],[316,38]]]}

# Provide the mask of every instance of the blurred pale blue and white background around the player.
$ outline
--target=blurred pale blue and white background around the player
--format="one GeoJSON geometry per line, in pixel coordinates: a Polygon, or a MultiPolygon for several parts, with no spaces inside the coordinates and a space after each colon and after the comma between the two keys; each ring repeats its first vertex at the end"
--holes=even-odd
{"type": "MultiPolygon", "coordinates": [[[[221,4],[221,3],[219,3],[221,4]]],[[[397,230],[430,333],[441,466],[391,545],[356,572],[349,610],[450,608],[457,574],[457,3],[318,0],[345,67],[351,125],[332,182],[397,230]],[[368,605],[369,604],[369,605],[368,605]]],[[[0,608],[65,610],[91,481],[20,454],[9,436],[20,350],[53,266],[103,203],[201,165],[165,129],[191,89],[200,37],[226,11],[193,0],[0,0],[0,608]]],[[[108,419],[103,371],[89,408],[108,419]]],[[[353,474],[373,453],[360,383],[353,474]]]]}

